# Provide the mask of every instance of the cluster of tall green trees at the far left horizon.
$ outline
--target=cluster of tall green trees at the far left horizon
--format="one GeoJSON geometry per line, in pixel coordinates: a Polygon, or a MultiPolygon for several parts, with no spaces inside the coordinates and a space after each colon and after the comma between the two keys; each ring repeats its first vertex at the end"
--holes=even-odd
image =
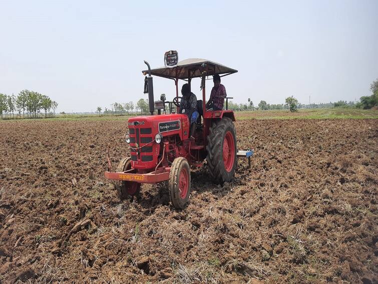
{"type": "Polygon", "coordinates": [[[24,118],[25,115],[35,118],[39,117],[42,111],[47,117],[51,110],[55,115],[57,107],[56,101],[35,91],[22,90],[17,96],[0,93],[0,115],[2,119],[15,118],[15,113],[16,115],[18,113],[20,118],[21,113],[24,118]]]}

